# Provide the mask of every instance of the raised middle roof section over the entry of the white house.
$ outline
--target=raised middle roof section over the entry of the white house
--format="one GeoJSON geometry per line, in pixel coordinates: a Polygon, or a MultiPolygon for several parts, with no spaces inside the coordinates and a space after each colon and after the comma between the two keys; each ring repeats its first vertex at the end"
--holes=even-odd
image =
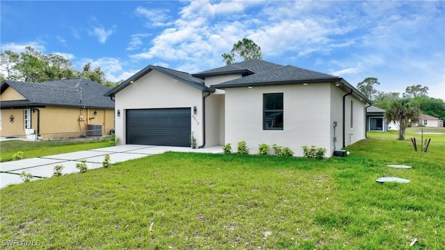
{"type": "Polygon", "coordinates": [[[234,63],[232,65],[226,65],[224,67],[209,69],[204,72],[193,74],[193,76],[199,78],[205,78],[208,76],[224,76],[227,74],[242,74],[243,76],[245,76],[268,71],[270,69],[276,69],[277,67],[282,67],[282,66],[283,65],[278,65],[276,63],[269,63],[264,60],[250,59],[250,60],[245,60],[244,62],[241,63],[234,63]]]}

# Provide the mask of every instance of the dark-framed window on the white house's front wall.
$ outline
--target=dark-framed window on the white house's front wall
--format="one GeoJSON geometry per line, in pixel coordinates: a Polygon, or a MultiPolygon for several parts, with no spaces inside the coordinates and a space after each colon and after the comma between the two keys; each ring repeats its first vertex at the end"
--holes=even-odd
{"type": "Polygon", "coordinates": [[[283,93],[263,94],[263,129],[283,130],[283,93]]]}

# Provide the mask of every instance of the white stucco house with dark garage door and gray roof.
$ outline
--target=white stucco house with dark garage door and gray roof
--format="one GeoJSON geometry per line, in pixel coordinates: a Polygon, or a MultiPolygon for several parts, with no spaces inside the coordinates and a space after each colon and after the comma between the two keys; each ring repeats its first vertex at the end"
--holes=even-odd
{"type": "MultiPolygon", "coordinates": [[[[252,59],[197,74],[149,65],[106,93],[124,144],[211,147],[245,141],[341,149],[365,138],[370,103],[343,78],[252,59]]],[[[272,150],[270,149],[270,153],[272,150]]]]}

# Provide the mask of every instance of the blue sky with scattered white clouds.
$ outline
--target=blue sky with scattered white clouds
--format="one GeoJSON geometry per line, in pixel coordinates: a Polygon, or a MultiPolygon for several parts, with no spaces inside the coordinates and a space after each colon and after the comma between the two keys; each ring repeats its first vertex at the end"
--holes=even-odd
{"type": "Polygon", "coordinates": [[[445,99],[444,1],[1,1],[1,51],[33,46],[88,62],[110,81],[147,65],[196,73],[223,66],[238,40],[263,59],[376,89],[410,85],[445,99]]]}

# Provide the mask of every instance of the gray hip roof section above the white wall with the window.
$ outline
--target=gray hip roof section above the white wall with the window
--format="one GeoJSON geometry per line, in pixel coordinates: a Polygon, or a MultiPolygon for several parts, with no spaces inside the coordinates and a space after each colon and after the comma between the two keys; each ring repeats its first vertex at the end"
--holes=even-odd
{"type": "Polygon", "coordinates": [[[225,83],[212,85],[213,88],[234,88],[255,85],[281,85],[289,83],[314,83],[340,81],[341,78],[331,74],[314,72],[309,69],[302,69],[295,66],[282,66],[268,71],[259,72],[250,76],[237,78],[225,83]]]}

